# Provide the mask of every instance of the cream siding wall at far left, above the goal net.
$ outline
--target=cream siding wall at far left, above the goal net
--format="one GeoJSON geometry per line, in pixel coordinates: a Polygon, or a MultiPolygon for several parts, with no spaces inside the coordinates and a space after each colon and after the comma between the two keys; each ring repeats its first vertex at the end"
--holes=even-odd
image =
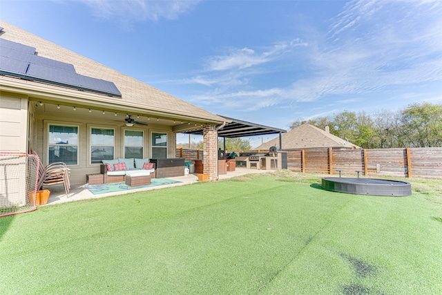
{"type": "Polygon", "coordinates": [[[0,151],[25,153],[27,129],[28,97],[0,92],[0,151]]]}

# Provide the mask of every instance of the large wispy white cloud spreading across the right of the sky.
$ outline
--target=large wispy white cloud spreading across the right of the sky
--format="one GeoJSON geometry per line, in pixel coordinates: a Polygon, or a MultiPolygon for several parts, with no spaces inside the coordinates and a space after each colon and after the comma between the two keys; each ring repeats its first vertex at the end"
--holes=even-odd
{"type": "MultiPolygon", "coordinates": [[[[202,74],[186,81],[202,84],[209,90],[194,95],[192,100],[258,111],[270,106],[294,106],[297,102],[326,101],[332,96],[345,97],[333,102],[337,107],[336,104],[356,103],[370,95],[384,97],[401,87],[412,89],[441,82],[439,3],[351,1],[330,20],[331,25],[322,35],[318,30],[311,34],[311,39],[236,48],[207,57],[202,74]],[[300,53],[299,47],[308,50],[300,53]],[[287,70],[298,65],[307,68],[302,73],[305,75],[294,75],[291,82],[287,80],[278,87],[260,83],[265,75],[278,75],[279,68],[287,70]]],[[[296,68],[292,72],[296,73],[296,68]]],[[[269,79],[276,81],[274,77],[269,79]]]]}

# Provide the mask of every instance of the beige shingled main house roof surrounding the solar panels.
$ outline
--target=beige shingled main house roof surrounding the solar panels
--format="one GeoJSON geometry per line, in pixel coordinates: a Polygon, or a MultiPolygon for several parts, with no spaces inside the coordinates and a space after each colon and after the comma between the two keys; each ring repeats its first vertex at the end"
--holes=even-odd
{"type": "Polygon", "coordinates": [[[0,76],[0,86],[3,91],[14,91],[17,88],[23,88],[30,93],[31,97],[33,93],[36,96],[47,93],[48,97],[60,95],[60,99],[70,99],[70,97],[73,99],[84,99],[84,102],[90,103],[91,106],[99,106],[102,108],[106,108],[106,106],[109,108],[111,106],[133,108],[140,110],[140,115],[163,115],[165,117],[176,117],[177,120],[186,118],[187,120],[194,119],[198,120],[198,122],[211,124],[226,122],[225,118],[160,91],[133,77],[119,73],[117,70],[108,68],[96,61],[73,53],[66,48],[57,46],[50,41],[32,35],[30,32],[21,30],[9,23],[0,21],[0,27],[3,28],[0,32],[0,38],[35,47],[40,57],[73,64],[76,73],[79,75],[113,82],[122,94],[122,97],[109,97],[99,93],[88,93],[86,91],[69,89],[64,86],[21,80],[7,75],[0,76]]]}

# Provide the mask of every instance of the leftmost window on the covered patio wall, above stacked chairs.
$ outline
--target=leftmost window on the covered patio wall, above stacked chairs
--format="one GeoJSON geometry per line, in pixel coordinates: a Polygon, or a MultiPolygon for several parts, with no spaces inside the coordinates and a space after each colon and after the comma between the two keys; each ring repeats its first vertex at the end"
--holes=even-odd
{"type": "Polygon", "coordinates": [[[49,164],[78,164],[78,126],[49,125],[49,164]]]}

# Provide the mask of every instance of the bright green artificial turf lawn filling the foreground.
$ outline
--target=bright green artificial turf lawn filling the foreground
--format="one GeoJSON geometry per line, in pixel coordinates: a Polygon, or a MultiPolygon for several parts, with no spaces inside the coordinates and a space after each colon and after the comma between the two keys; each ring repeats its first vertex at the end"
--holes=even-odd
{"type": "Polygon", "coordinates": [[[0,294],[442,294],[442,193],[281,173],[0,218],[0,294]]]}

